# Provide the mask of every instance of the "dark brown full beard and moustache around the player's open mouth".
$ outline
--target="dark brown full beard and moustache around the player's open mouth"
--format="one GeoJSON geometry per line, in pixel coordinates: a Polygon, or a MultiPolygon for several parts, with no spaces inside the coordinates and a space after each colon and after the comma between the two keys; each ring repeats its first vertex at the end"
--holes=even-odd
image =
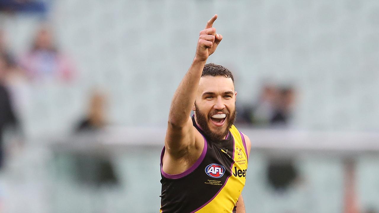
{"type": "Polygon", "coordinates": [[[202,128],[205,135],[207,135],[212,141],[218,141],[218,140],[224,139],[224,137],[229,133],[229,129],[230,129],[230,127],[232,127],[232,125],[235,121],[236,114],[237,114],[236,110],[234,110],[232,113],[229,113],[229,111],[227,109],[212,110],[206,116],[205,113],[202,113],[199,110],[199,107],[197,107],[196,102],[195,102],[195,108],[196,108],[195,115],[196,115],[197,124],[199,125],[200,128],[202,128]],[[225,118],[225,119],[227,119],[226,128],[225,128],[225,126],[217,127],[217,128],[219,128],[218,129],[219,131],[212,131],[209,128],[208,121],[212,115],[214,115],[218,112],[222,112],[222,113],[226,114],[226,118],[225,118]],[[222,128],[225,128],[225,130],[222,131],[222,128]]]}

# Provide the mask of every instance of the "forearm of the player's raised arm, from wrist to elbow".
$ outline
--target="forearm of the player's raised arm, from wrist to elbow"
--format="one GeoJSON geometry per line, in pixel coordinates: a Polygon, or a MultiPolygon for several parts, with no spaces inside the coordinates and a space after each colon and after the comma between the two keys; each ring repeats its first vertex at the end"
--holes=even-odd
{"type": "Polygon", "coordinates": [[[205,62],[195,58],[176,89],[169,113],[171,125],[182,127],[188,121],[205,62]]]}

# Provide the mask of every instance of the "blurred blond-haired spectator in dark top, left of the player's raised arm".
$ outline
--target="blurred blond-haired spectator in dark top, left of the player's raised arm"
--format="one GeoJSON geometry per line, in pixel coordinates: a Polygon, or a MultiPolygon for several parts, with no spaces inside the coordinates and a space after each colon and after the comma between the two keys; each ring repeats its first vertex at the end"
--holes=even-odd
{"type": "Polygon", "coordinates": [[[79,123],[77,132],[100,130],[105,124],[105,97],[99,92],[94,92],[89,103],[88,115],[79,123]]]}

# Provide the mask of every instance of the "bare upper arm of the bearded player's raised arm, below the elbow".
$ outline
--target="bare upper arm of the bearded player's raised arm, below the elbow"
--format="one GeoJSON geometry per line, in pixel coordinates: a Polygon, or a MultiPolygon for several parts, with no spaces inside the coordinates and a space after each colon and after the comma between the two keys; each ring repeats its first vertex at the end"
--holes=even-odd
{"type": "Polygon", "coordinates": [[[177,127],[168,123],[164,146],[170,154],[180,154],[183,150],[194,144],[195,134],[191,117],[189,117],[186,124],[182,127],[177,127]]]}

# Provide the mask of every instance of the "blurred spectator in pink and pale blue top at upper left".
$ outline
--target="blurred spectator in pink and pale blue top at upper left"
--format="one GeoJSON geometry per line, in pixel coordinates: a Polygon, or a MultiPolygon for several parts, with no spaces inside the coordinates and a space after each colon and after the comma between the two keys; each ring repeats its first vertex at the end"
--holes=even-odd
{"type": "Polygon", "coordinates": [[[75,68],[54,43],[52,31],[42,27],[30,52],[21,60],[28,77],[36,81],[72,80],[75,68]]]}

